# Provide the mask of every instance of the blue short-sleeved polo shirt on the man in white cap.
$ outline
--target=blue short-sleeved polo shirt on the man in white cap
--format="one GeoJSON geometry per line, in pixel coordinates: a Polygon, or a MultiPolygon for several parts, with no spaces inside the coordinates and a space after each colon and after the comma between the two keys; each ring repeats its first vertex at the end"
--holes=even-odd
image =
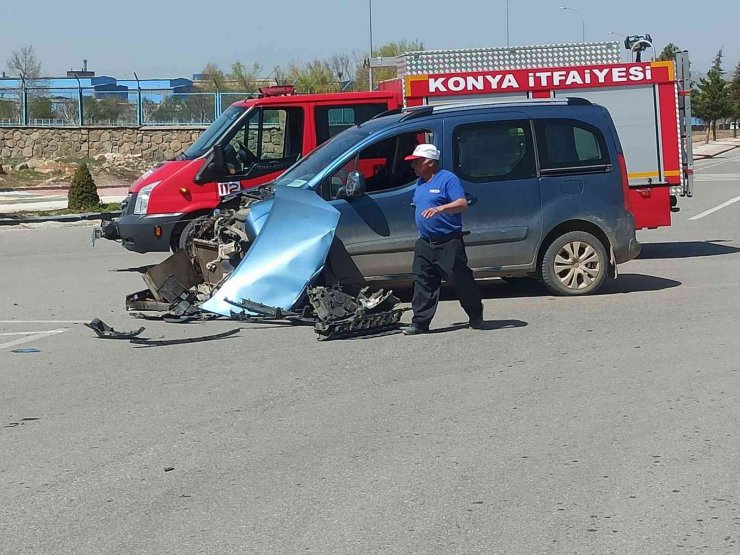
{"type": "Polygon", "coordinates": [[[457,176],[447,170],[439,170],[429,181],[419,178],[414,191],[416,205],[416,227],[419,235],[426,239],[462,231],[462,214],[437,214],[424,218],[421,213],[427,208],[448,204],[465,198],[465,191],[457,176]]]}

